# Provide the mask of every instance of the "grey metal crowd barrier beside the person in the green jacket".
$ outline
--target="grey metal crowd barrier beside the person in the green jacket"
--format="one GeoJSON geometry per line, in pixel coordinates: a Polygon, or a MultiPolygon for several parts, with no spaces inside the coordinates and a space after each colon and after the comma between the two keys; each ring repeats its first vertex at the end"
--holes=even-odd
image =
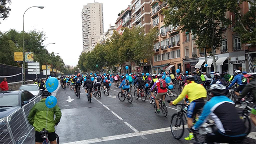
{"type": "Polygon", "coordinates": [[[39,96],[0,122],[0,144],[22,144],[28,136],[33,137],[31,130],[34,127],[28,123],[27,117],[38,101],[39,96]]]}

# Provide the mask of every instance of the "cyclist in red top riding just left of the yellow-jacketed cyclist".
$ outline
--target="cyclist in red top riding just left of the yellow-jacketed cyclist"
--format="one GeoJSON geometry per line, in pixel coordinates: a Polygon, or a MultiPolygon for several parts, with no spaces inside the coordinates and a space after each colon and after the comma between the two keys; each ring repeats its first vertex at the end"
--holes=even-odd
{"type": "Polygon", "coordinates": [[[155,104],[156,104],[157,110],[155,111],[155,113],[160,113],[158,100],[162,99],[163,105],[165,105],[164,98],[165,98],[165,95],[167,94],[166,82],[165,80],[162,79],[161,74],[158,75],[158,80],[154,83],[151,90],[153,90],[155,86],[157,86],[157,94],[155,96],[155,104]]]}

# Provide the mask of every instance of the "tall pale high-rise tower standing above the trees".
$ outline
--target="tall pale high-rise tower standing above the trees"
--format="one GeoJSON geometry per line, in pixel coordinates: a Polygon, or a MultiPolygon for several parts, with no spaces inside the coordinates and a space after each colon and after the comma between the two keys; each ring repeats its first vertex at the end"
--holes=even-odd
{"type": "Polygon", "coordinates": [[[89,52],[104,33],[103,4],[89,3],[82,9],[83,52],[89,52]]]}

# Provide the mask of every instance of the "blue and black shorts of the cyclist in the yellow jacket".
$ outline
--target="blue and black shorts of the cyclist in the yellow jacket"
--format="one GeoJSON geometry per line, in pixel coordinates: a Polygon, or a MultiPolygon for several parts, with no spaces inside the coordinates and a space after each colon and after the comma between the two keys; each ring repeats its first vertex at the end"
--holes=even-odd
{"type": "Polygon", "coordinates": [[[203,109],[204,102],[195,102],[192,101],[188,107],[188,118],[194,118],[195,114],[200,113],[201,109],[203,109]]]}

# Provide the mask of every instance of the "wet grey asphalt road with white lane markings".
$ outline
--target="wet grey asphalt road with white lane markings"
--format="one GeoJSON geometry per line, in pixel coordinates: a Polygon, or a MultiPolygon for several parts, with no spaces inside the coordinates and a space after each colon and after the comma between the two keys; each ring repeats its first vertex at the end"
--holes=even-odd
{"type": "MultiPolygon", "coordinates": [[[[181,140],[173,138],[170,122],[176,107],[168,107],[167,117],[154,113],[153,104],[148,98],[132,103],[118,99],[120,89],[111,87],[110,95],[93,98],[89,103],[83,89],[78,99],[70,89],[59,88],[55,93],[59,107],[62,109],[61,122],[56,127],[60,144],[191,144],[186,141],[185,129],[181,140]],[[69,99],[69,96],[71,100],[69,99]],[[68,100],[68,101],[67,101],[68,100]],[[69,102],[71,101],[71,102],[69,102]]],[[[132,91],[132,95],[133,91],[132,91]]],[[[238,108],[240,109],[240,108],[238,108]]],[[[241,110],[241,109],[240,109],[241,110]]],[[[180,132],[181,130],[176,130],[180,132]]],[[[252,128],[250,137],[244,144],[254,144],[256,129],[252,128]]],[[[26,144],[34,144],[34,139],[27,138],[26,144]]]]}

